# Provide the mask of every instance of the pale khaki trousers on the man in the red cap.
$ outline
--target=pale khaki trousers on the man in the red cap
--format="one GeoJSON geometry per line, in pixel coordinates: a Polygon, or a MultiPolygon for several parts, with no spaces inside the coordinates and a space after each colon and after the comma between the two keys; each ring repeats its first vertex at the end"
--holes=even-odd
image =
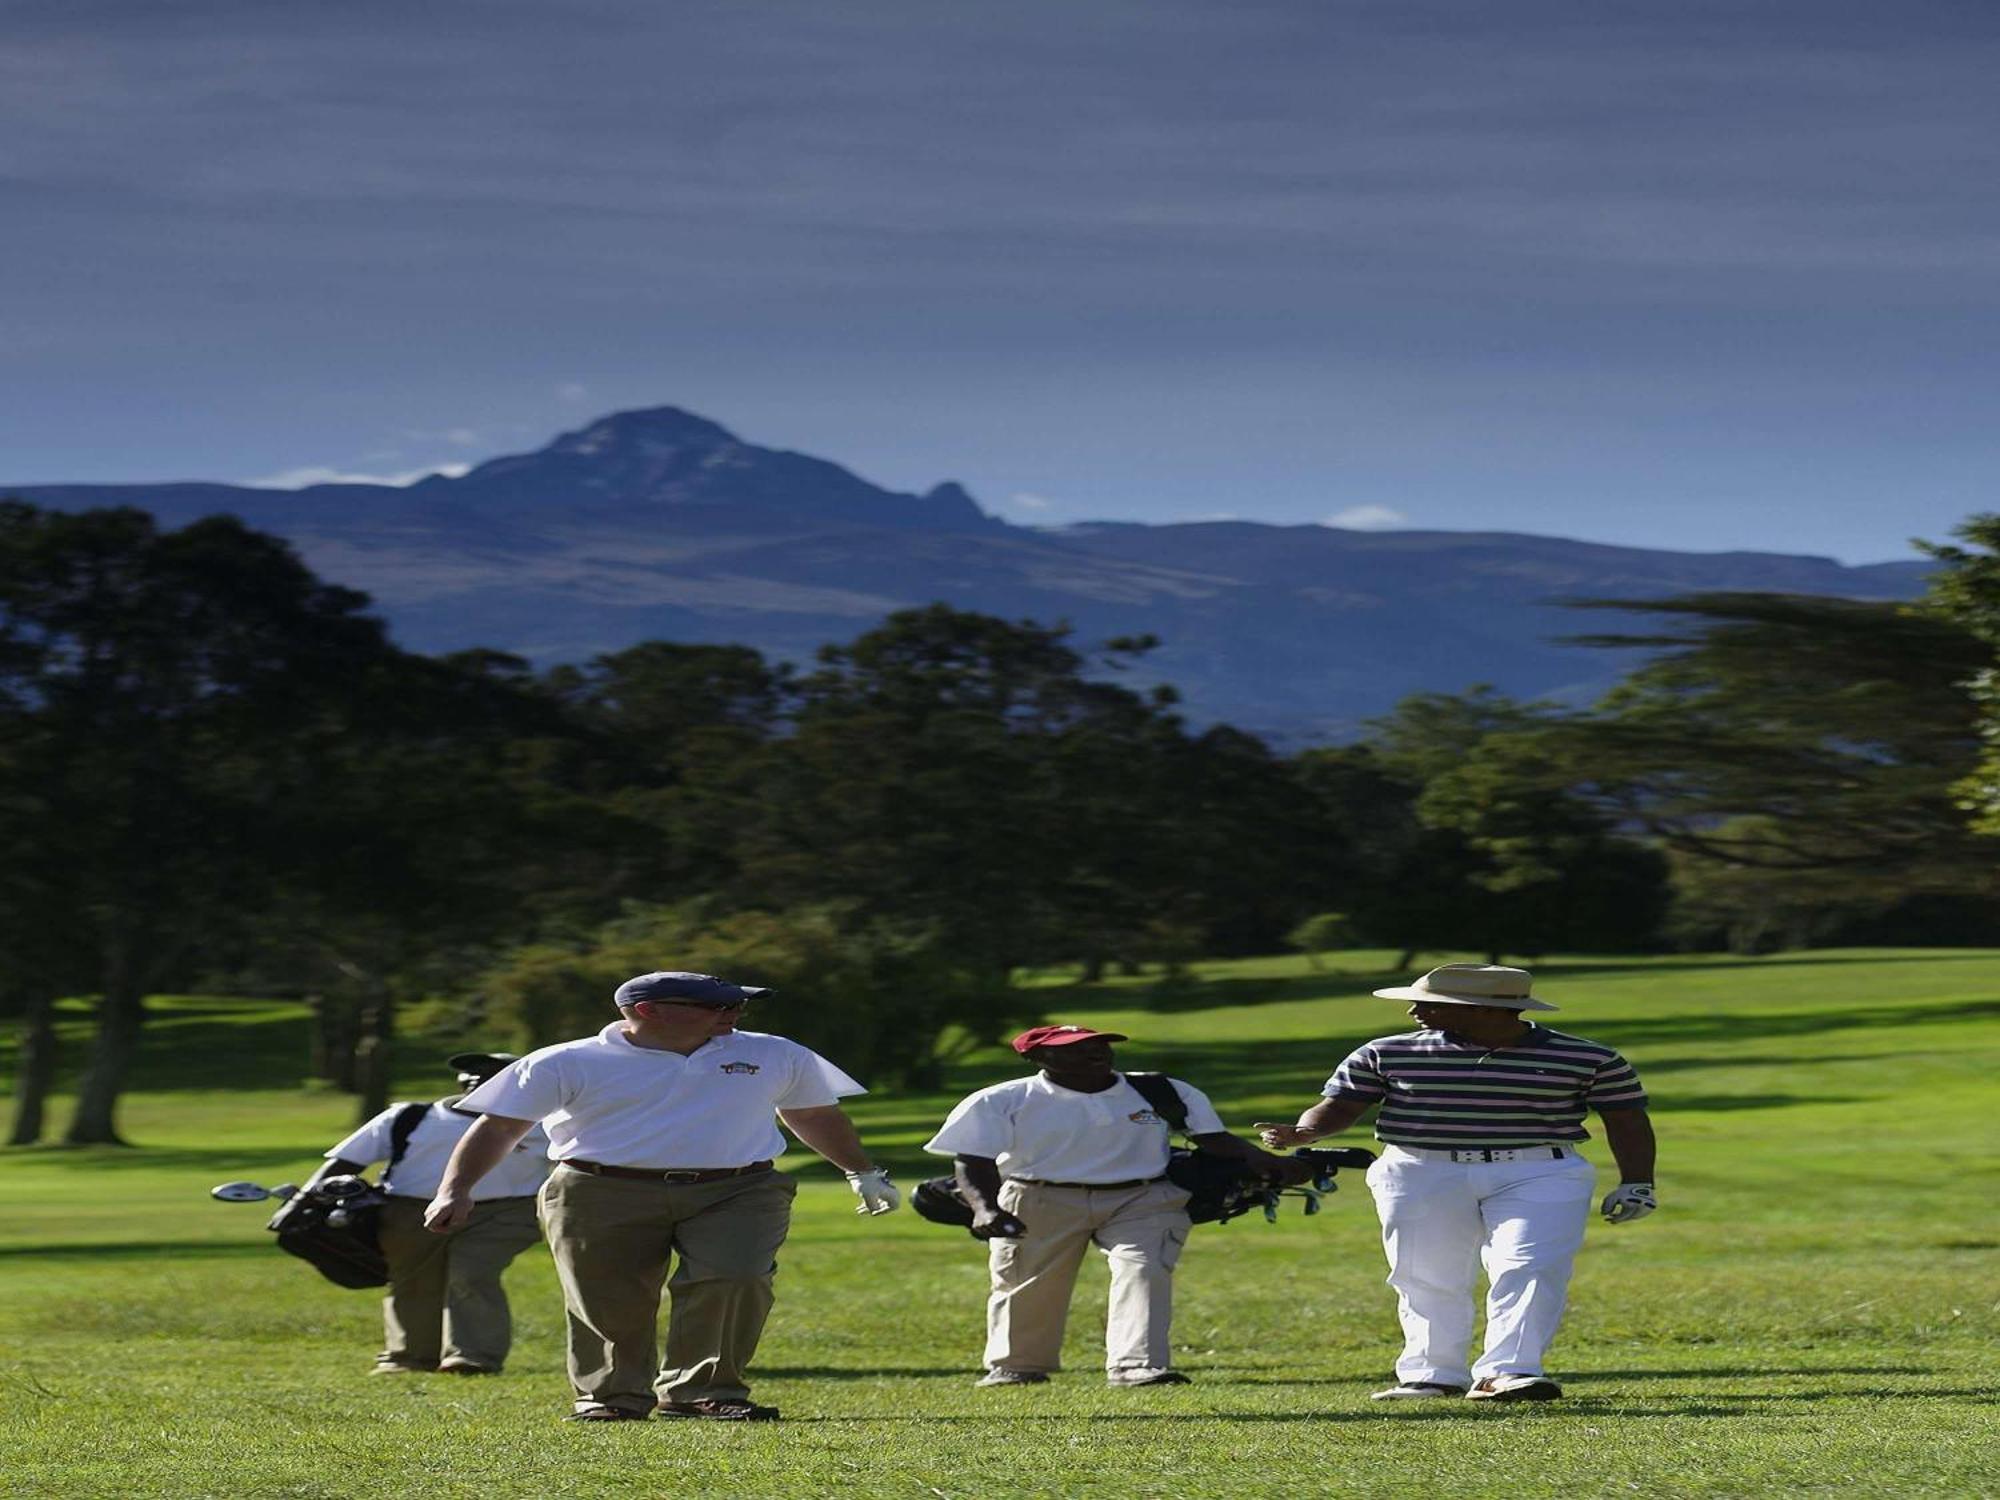
{"type": "Polygon", "coordinates": [[[986,1368],[1062,1368],[1062,1324],[1084,1248],[1112,1270],[1104,1320],[1104,1370],[1166,1370],[1174,1318],[1174,1264],[1188,1242],[1188,1192],[1172,1182],[1138,1188],[1052,1188],[1002,1182],[1000,1206],[1028,1232],[988,1240],[992,1296],[986,1302],[986,1368]]]}

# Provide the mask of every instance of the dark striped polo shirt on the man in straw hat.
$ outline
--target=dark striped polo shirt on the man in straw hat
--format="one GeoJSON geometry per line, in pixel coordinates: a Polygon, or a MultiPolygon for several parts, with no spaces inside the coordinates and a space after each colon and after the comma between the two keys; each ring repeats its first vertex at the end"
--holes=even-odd
{"type": "Polygon", "coordinates": [[[1320,1092],[1380,1100],[1376,1140],[1432,1148],[1588,1140],[1586,1108],[1646,1104],[1618,1052],[1532,1022],[1524,1038],[1492,1050],[1434,1030],[1382,1036],[1358,1046],[1320,1092]]]}

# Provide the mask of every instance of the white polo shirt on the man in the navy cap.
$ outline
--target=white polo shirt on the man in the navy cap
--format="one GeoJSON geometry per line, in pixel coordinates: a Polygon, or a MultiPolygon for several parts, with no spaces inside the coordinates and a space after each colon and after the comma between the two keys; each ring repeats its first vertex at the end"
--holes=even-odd
{"type": "Polygon", "coordinates": [[[636,1046],[614,1020],[508,1064],[460,1108],[540,1120],[548,1154],[600,1166],[748,1166],[784,1154],[776,1110],[812,1110],[868,1090],[810,1046],[730,1032],[694,1052],[636,1046]]]}

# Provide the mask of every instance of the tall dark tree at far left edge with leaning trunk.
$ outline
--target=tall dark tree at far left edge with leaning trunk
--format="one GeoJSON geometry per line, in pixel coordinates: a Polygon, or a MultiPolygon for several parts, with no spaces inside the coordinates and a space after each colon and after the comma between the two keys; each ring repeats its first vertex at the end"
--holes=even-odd
{"type": "Polygon", "coordinates": [[[264,900],[270,752],[390,650],[364,604],[228,518],[0,504],[0,774],[32,808],[6,926],[48,914],[98,994],[70,1142],[118,1142],[144,996],[264,900]]]}

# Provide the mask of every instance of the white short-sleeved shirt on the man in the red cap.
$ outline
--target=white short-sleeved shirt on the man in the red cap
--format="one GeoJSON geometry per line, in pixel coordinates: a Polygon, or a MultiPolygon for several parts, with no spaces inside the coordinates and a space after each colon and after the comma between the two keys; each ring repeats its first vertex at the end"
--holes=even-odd
{"type": "MultiPolygon", "coordinates": [[[[1222,1130],[1222,1116],[1202,1090],[1178,1078],[1168,1082],[1188,1108],[1188,1134],[1222,1130]]],[[[1172,1134],[1124,1074],[1100,1094],[1080,1094],[1036,1074],[960,1100],[924,1150],[992,1156],[1010,1178],[1134,1182],[1166,1172],[1172,1134]]]]}

